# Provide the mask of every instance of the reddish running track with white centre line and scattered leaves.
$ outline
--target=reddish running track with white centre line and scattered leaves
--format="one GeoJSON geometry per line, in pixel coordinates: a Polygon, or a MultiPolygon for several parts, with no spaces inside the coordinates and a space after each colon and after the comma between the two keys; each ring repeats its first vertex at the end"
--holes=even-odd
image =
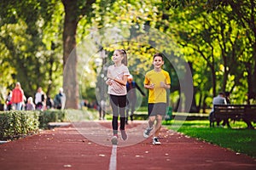
{"type": "Polygon", "coordinates": [[[151,139],[137,136],[142,136],[142,122],[127,126],[129,139],[115,147],[107,132],[111,122],[96,124],[74,123],[0,144],[0,169],[256,169],[252,157],[166,129],[161,131],[162,144],[152,145],[151,139]]]}

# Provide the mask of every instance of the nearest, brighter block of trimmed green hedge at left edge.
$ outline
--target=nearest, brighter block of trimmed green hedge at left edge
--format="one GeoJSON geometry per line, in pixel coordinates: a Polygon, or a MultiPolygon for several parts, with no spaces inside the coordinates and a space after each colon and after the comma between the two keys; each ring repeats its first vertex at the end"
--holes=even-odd
{"type": "Polygon", "coordinates": [[[0,113],[0,139],[16,139],[38,132],[37,111],[6,111],[0,113]]]}

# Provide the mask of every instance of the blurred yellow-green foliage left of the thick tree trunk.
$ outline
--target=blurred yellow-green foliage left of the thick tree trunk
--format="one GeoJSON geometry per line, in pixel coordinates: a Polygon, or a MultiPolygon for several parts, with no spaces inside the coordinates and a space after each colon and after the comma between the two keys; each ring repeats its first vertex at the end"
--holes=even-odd
{"type": "Polygon", "coordinates": [[[55,0],[1,3],[0,72],[5,78],[0,88],[4,95],[16,81],[27,97],[34,96],[39,86],[46,94],[56,93],[62,71],[61,55],[56,54],[61,52],[63,20],[59,4],[55,0]]]}

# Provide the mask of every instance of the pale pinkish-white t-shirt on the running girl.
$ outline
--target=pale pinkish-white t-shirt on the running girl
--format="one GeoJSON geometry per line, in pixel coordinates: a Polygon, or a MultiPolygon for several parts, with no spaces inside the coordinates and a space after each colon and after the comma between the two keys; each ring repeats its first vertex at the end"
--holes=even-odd
{"type": "MultiPolygon", "coordinates": [[[[113,78],[117,80],[123,80],[123,77],[129,76],[130,72],[125,65],[120,65],[120,66],[115,66],[115,65],[110,65],[108,67],[108,75],[111,75],[113,78]]],[[[111,80],[112,85],[108,86],[108,94],[113,94],[113,95],[126,95],[127,90],[126,86],[123,86],[119,84],[118,82],[115,82],[111,80]]]]}

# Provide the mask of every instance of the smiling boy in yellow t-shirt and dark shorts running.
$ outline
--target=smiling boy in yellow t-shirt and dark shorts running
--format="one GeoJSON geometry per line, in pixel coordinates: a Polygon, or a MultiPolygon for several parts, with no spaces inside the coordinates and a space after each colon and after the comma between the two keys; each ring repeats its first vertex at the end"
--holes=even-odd
{"type": "Polygon", "coordinates": [[[144,131],[144,138],[148,138],[154,127],[153,144],[160,144],[159,133],[163,116],[166,116],[166,89],[171,88],[171,78],[167,71],[162,69],[164,65],[164,55],[154,54],[154,69],[148,71],[144,80],[144,88],[148,88],[148,127],[144,131]],[[154,126],[154,122],[156,124],[154,126]]]}

